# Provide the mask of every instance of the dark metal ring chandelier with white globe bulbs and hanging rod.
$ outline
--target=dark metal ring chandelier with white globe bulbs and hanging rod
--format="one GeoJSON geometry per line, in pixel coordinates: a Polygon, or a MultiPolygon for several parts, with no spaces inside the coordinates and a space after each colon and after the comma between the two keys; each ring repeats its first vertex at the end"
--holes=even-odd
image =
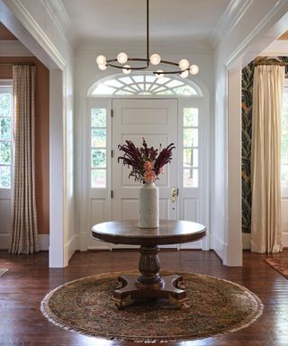
{"type": "Polygon", "coordinates": [[[143,70],[147,69],[150,64],[157,66],[159,64],[163,65],[170,65],[173,67],[177,67],[174,70],[168,70],[163,71],[162,69],[157,69],[157,71],[153,71],[153,74],[156,75],[158,78],[164,77],[164,75],[168,74],[179,74],[181,77],[186,78],[189,76],[189,72],[192,75],[197,75],[199,72],[199,68],[197,65],[190,65],[189,61],[187,59],[181,59],[179,63],[162,60],[159,54],[154,53],[151,56],[149,56],[149,0],[147,0],[147,36],[146,36],[146,58],[129,58],[126,53],[121,51],[117,55],[117,59],[110,59],[107,60],[103,55],[99,55],[96,59],[96,62],[98,64],[98,68],[101,70],[105,70],[108,67],[112,68],[121,68],[123,73],[126,75],[130,74],[131,71],[135,70],[143,70]],[[127,64],[128,61],[141,61],[145,62],[144,66],[130,66],[127,64]]]}

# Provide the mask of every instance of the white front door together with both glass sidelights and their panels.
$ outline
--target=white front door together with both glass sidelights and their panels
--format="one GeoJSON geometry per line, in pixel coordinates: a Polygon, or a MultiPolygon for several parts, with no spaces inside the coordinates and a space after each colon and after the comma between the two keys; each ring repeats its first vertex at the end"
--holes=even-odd
{"type": "MultiPolygon", "coordinates": [[[[204,131],[202,109],[202,100],[192,98],[93,98],[89,101],[90,129],[87,133],[92,137],[89,140],[88,214],[83,214],[85,230],[90,230],[94,223],[138,218],[140,183],[129,178],[130,168],[118,162],[122,155],[118,146],[126,140],[141,146],[143,138],[148,146],[155,148],[160,144],[166,147],[175,143],[173,159],[156,181],[160,218],[188,220],[209,226],[209,136],[205,137],[208,132],[204,131]],[[103,120],[95,121],[95,114],[103,120]],[[101,141],[98,135],[101,135],[101,141]],[[173,187],[178,191],[175,202],[171,199],[173,187]]],[[[87,247],[90,249],[108,246],[90,237],[88,239],[87,247]]],[[[114,247],[118,246],[110,245],[110,249],[114,247]]],[[[182,244],[180,248],[208,250],[209,238],[182,244]]]]}

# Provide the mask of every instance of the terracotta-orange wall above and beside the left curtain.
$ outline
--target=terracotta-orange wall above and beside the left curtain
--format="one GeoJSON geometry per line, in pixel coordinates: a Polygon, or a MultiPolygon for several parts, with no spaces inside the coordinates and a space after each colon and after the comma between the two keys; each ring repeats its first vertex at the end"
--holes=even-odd
{"type": "Polygon", "coordinates": [[[49,233],[49,69],[35,57],[0,57],[0,78],[12,78],[12,64],[17,62],[33,63],[36,66],[36,204],[38,232],[47,234],[49,233]],[[7,65],[1,65],[6,63],[7,65]]]}

